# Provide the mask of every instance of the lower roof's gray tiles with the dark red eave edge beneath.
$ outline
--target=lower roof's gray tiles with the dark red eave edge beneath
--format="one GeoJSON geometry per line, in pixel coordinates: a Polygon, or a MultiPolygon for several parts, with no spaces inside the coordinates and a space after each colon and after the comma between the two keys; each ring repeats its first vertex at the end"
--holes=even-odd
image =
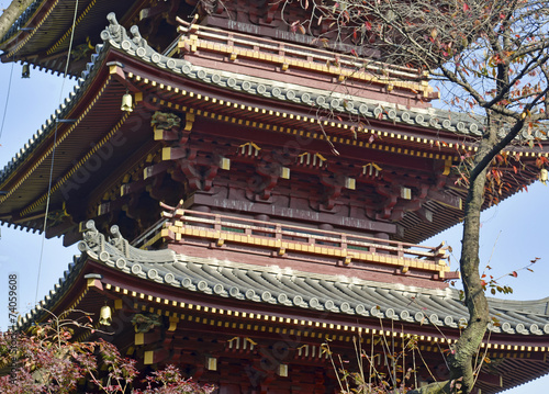
{"type": "MultiPolygon", "coordinates": [[[[42,307],[57,305],[88,261],[104,267],[96,272],[103,275],[103,284],[116,286],[116,292],[125,289],[144,294],[136,296],[156,300],[158,304],[164,300],[194,300],[199,304],[200,300],[209,300],[219,307],[227,303],[235,305],[235,309],[238,309],[236,305],[248,305],[250,312],[279,311],[277,314],[283,316],[306,314],[315,319],[339,320],[338,324],[357,327],[366,320],[378,326],[381,319],[386,327],[399,323],[411,333],[444,329],[447,338],[458,338],[460,328],[467,324],[467,308],[453,289],[371,282],[354,278],[348,270],[347,274],[334,277],[183,256],[170,249],[142,250],[128,245],[116,226],[111,229],[113,237],[107,239],[90,223],[85,240],[78,246],[82,257],[59,280],[42,307]],[[360,323],[352,323],[357,319],[360,323]]],[[[489,349],[549,351],[549,297],[520,302],[489,299],[489,304],[491,315],[498,319],[489,326],[489,349]]],[[[37,312],[26,316],[23,324],[37,312]]]]}

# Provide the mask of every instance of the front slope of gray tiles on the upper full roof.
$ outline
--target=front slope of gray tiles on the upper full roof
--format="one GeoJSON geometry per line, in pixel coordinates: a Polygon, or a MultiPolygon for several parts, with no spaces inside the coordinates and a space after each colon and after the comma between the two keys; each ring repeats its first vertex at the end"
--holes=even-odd
{"type": "MultiPolygon", "coordinates": [[[[481,135],[482,123],[467,114],[437,109],[403,110],[389,102],[368,100],[352,94],[340,94],[301,85],[194,66],[187,60],[167,57],[154,50],[141,37],[137,26],[132,26],[130,35],[133,37],[130,37],[125,29],[116,23],[112,13],[108,19],[110,26],[101,33],[101,38],[105,43],[159,68],[169,69],[176,75],[200,80],[206,85],[366,119],[442,130],[461,135],[481,135]]],[[[540,137],[545,135],[540,134],[540,137]]]]}

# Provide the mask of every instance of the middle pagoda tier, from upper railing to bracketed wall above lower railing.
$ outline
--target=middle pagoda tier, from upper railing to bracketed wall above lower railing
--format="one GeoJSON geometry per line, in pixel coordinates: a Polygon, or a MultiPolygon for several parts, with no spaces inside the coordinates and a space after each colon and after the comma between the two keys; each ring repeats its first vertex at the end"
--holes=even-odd
{"type": "MultiPolygon", "coordinates": [[[[159,53],[109,15],[75,93],[1,172],[1,221],[41,228],[54,146],[48,235],[71,234],[69,244],[96,217],[137,236],[158,221],[158,202],[181,199],[406,243],[460,221],[457,169],[483,125],[428,108],[416,71],[371,61],[351,72],[351,57],[334,64],[324,49],[190,22],[179,31],[159,53]],[[126,93],[133,112],[120,108],[126,93]]],[[[517,140],[496,169],[518,188],[548,155],[544,134],[520,138],[537,144],[517,140]]],[[[515,191],[486,194],[484,206],[515,191]]]]}

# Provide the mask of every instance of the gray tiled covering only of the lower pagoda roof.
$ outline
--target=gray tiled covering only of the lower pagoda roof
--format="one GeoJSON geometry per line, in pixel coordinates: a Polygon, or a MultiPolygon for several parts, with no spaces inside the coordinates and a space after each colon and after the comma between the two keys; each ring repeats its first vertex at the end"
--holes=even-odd
{"type": "MultiPolygon", "coordinates": [[[[83,240],[78,245],[87,258],[143,280],[189,292],[235,301],[343,315],[372,316],[411,324],[458,328],[467,324],[468,312],[455,289],[432,290],[380,283],[348,275],[326,275],[262,267],[237,261],[183,256],[172,250],[147,251],[131,246],[117,229],[105,238],[92,221],[87,223],[83,240]]],[[[72,264],[59,285],[41,307],[55,304],[70,285],[75,272],[86,258],[72,264]]],[[[348,272],[348,271],[347,271],[348,272]]],[[[31,322],[40,308],[27,314],[31,322]]],[[[490,324],[492,333],[513,335],[549,335],[549,297],[539,301],[504,301],[490,299],[490,313],[498,324],[490,324]]]]}

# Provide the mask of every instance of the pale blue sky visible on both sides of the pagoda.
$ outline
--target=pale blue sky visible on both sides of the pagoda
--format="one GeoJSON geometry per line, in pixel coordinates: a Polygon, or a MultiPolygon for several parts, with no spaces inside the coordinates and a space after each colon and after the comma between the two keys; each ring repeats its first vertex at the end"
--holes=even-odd
{"type": "MultiPolygon", "coordinates": [[[[59,105],[59,98],[67,97],[74,82],[67,80],[61,93],[61,78],[31,70],[30,79],[21,78],[21,65],[0,64],[0,123],[8,98],[8,112],[0,136],[0,166],[11,160],[16,151],[27,143],[41,125],[59,105]],[[11,92],[7,97],[11,78],[11,92]]],[[[482,264],[493,267],[494,277],[504,275],[528,264],[530,259],[540,260],[533,267],[534,273],[525,270],[518,278],[504,278],[504,284],[514,289],[509,300],[538,300],[549,296],[549,187],[539,182],[488,210],[482,215],[481,260],[482,264]]],[[[461,228],[453,227],[425,245],[435,246],[446,240],[453,248],[452,269],[457,269],[461,228]]],[[[61,239],[43,239],[40,234],[1,227],[0,239],[0,282],[8,282],[8,274],[18,273],[19,305],[22,313],[29,312],[37,301],[53,289],[63,275],[72,256],[78,254],[76,246],[64,248],[61,239]],[[42,252],[42,245],[44,250],[42,252]],[[41,255],[43,256],[41,262],[41,255]],[[38,268],[40,281],[38,281],[38,268]]],[[[8,294],[4,284],[0,286],[0,329],[8,326],[8,294]]],[[[549,376],[517,387],[507,393],[530,394],[547,392],[549,376]]]]}

